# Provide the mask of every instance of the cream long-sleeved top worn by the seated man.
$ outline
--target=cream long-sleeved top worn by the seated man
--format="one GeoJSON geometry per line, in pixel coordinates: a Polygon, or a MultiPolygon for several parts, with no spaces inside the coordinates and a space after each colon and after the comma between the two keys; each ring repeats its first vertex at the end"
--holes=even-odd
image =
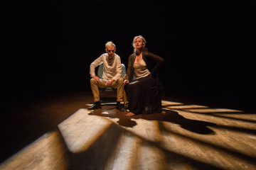
{"type": "Polygon", "coordinates": [[[107,53],[98,57],[92,64],[90,64],[90,76],[95,76],[95,67],[102,64],[104,65],[103,76],[102,79],[107,81],[110,79],[114,79],[117,81],[119,77],[122,77],[122,64],[119,55],[114,54],[112,60],[109,60],[107,57],[107,53]]]}

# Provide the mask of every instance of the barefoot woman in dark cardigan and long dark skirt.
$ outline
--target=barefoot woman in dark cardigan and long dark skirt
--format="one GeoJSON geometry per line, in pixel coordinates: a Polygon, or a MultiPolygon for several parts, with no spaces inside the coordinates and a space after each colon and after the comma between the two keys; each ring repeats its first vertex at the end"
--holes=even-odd
{"type": "Polygon", "coordinates": [[[148,52],[145,45],[142,35],[134,37],[134,54],[129,56],[127,79],[124,80],[129,102],[129,113],[125,116],[161,113],[162,86],[156,72],[164,59],[148,52]]]}

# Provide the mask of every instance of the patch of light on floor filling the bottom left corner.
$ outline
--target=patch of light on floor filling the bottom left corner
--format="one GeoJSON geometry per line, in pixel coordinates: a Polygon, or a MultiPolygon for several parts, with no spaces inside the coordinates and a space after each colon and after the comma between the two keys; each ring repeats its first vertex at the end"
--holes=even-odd
{"type": "Polygon", "coordinates": [[[55,130],[21,149],[3,162],[0,169],[67,169],[67,162],[62,162],[66,152],[60,131],[55,130]]]}

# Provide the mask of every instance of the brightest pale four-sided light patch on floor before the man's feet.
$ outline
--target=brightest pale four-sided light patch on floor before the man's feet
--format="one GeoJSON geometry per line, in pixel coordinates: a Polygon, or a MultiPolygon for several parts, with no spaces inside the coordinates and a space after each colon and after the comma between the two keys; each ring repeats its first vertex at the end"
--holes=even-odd
{"type": "Polygon", "coordinates": [[[100,116],[90,116],[88,115],[90,112],[81,108],[71,118],[58,125],[70,152],[85,152],[110,127],[112,123],[110,120],[100,116]],[[70,128],[66,128],[67,125],[70,128]]]}

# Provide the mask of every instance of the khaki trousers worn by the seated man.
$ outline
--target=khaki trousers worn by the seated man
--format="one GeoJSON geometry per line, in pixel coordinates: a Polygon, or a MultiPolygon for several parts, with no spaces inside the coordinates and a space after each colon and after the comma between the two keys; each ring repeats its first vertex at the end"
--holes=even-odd
{"type": "MultiPolygon", "coordinates": [[[[90,79],[90,85],[92,89],[92,94],[94,101],[100,101],[100,94],[99,94],[99,89],[100,88],[106,88],[105,86],[106,81],[103,79],[100,79],[99,82],[95,79],[90,79]]],[[[123,93],[124,93],[124,79],[119,78],[117,81],[113,81],[112,84],[110,85],[112,88],[117,89],[117,101],[123,101],[123,93]]]]}

